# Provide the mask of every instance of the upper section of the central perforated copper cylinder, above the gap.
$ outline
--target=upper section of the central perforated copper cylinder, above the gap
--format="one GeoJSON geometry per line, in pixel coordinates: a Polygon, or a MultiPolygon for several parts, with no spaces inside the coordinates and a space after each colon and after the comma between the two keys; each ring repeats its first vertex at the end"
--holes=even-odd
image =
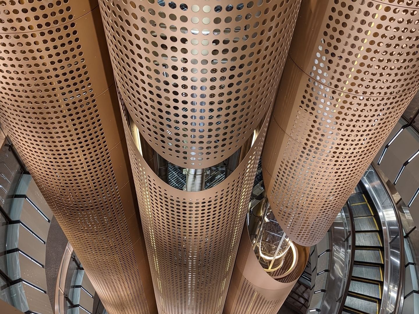
{"type": "Polygon", "coordinates": [[[300,1],[99,3],[122,99],[153,149],[195,169],[236,152],[272,105],[300,1]]]}

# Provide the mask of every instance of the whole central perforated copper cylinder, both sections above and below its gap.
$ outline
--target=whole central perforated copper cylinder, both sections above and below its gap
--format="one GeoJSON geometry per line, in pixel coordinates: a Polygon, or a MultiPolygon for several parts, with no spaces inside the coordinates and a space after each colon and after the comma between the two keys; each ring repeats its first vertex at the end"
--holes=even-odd
{"type": "Polygon", "coordinates": [[[160,314],[222,312],[299,1],[101,0],[127,121],[174,165],[223,162],[259,127],[221,183],[178,190],[126,128],[160,314]]]}

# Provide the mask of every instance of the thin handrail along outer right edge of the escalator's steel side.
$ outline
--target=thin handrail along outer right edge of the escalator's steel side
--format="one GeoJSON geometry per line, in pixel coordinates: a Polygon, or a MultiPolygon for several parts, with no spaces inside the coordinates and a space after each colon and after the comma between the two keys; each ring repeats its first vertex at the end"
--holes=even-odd
{"type": "MultiPolygon", "coordinates": [[[[400,213],[397,209],[396,202],[394,201],[393,194],[391,193],[390,189],[388,188],[387,184],[385,184],[385,180],[381,175],[380,171],[377,170],[374,164],[371,164],[372,169],[374,170],[375,174],[377,175],[378,179],[380,180],[381,185],[383,186],[385,192],[388,195],[391,204],[393,205],[393,211],[396,216],[397,226],[398,226],[398,239],[400,241],[400,272],[399,272],[399,282],[398,282],[398,289],[397,289],[397,297],[396,297],[396,305],[394,306],[394,314],[398,314],[402,312],[403,308],[403,299],[404,299],[404,277],[405,277],[405,268],[404,268],[404,236],[403,236],[403,224],[401,222],[400,213]]],[[[391,239],[391,241],[393,241],[391,239]]]]}

